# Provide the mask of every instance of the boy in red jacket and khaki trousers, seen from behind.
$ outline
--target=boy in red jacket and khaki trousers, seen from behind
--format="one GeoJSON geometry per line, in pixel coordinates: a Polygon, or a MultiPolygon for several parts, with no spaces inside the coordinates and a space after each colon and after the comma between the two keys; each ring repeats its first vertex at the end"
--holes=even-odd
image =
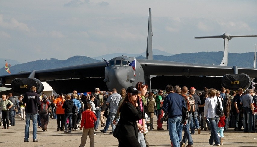
{"type": "Polygon", "coordinates": [[[94,112],[91,111],[92,106],[91,104],[86,104],[86,111],[82,112],[82,119],[80,124],[80,130],[84,126],[80,147],[84,147],[87,142],[87,135],[89,135],[90,139],[90,147],[95,146],[94,141],[94,122],[97,120],[96,115],[94,112]]]}

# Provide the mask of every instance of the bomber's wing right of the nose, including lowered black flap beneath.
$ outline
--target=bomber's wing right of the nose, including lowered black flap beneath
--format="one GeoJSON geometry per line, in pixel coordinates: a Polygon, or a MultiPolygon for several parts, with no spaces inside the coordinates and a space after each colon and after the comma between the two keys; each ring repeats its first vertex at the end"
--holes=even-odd
{"type": "MultiPolygon", "coordinates": [[[[234,74],[232,66],[181,63],[160,60],[137,59],[144,69],[144,74],[151,79],[151,89],[165,89],[165,86],[203,87],[221,89],[222,76],[234,74]]],[[[245,73],[250,78],[257,77],[257,69],[238,67],[238,73],[245,73]]]]}

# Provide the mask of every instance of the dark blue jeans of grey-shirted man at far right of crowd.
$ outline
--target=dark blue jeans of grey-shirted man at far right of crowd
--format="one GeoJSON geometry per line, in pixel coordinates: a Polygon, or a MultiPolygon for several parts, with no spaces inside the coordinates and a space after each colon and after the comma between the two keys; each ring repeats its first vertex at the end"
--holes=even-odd
{"type": "Polygon", "coordinates": [[[243,108],[243,116],[244,116],[244,132],[252,132],[252,110],[250,108],[243,108]]]}

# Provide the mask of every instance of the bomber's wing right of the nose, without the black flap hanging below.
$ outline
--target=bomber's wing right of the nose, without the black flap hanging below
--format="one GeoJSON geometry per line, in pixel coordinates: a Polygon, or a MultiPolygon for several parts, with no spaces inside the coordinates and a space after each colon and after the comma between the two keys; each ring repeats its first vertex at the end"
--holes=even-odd
{"type": "MultiPolygon", "coordinates": [[[[232,66],[182,63],[160,60],[137,59],[146,75],[184,75],[184,76],[224,76],[233,74],[232,66]]],[[[238,73],[257,78],[257,69],[238,67],[238,73]]]]}

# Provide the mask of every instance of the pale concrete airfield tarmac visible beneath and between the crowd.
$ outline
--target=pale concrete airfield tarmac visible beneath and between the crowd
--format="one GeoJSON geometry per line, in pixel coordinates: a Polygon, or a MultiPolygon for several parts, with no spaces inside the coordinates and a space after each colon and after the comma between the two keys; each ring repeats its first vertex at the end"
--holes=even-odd
{"type": "MultiPolygon", "coordinates": [[[[24,142],[24,127],[25,120],[15,117],[15,126],[11,126],[10,129],[2,129],[0,127],[0,145],[2,147],[56,147],[56,146],[79,146],[82,136],[82,130],[72,131],[72,133],[63,133],[63,131],[56,131],[57,122],[55,119],[50,119],[48,123],[47,131],[43,132],[41,128],[37,129],[37,139],[39,142],[33,142],[32,139],[32,121],[30,121],[30,142],[24,142]]],[[[163,125],[164,129],[167,129],[166,123],[163,125]]],[[[118,140],[112,135],[111,125],[106,134],[100,132],[103,129],[98,127],[97,135],[94,136],[96,147],[117,147],[118,140]]],[[[210,131],[201,131],[201,134],[192,135],[194,146],[210,146],[208,139],[210,137],[210,131]]],[[[184,134],[184,133],[183,133],[184,134]]],[[[154,130],[149,131],[147,141],[151,147],[170,147],[169,133],[167,130],[157,130],[156,116],[154,115],[154,130]]],[[[234,131],[233,128],[229,128],[229,131],[224,132],[224,141],[222,146],[224,147],[257,147],[257,133],[243,133],[240,131],[234,131]]],[[[85,146],[90,146],[89,138],[85,146]]]]}

